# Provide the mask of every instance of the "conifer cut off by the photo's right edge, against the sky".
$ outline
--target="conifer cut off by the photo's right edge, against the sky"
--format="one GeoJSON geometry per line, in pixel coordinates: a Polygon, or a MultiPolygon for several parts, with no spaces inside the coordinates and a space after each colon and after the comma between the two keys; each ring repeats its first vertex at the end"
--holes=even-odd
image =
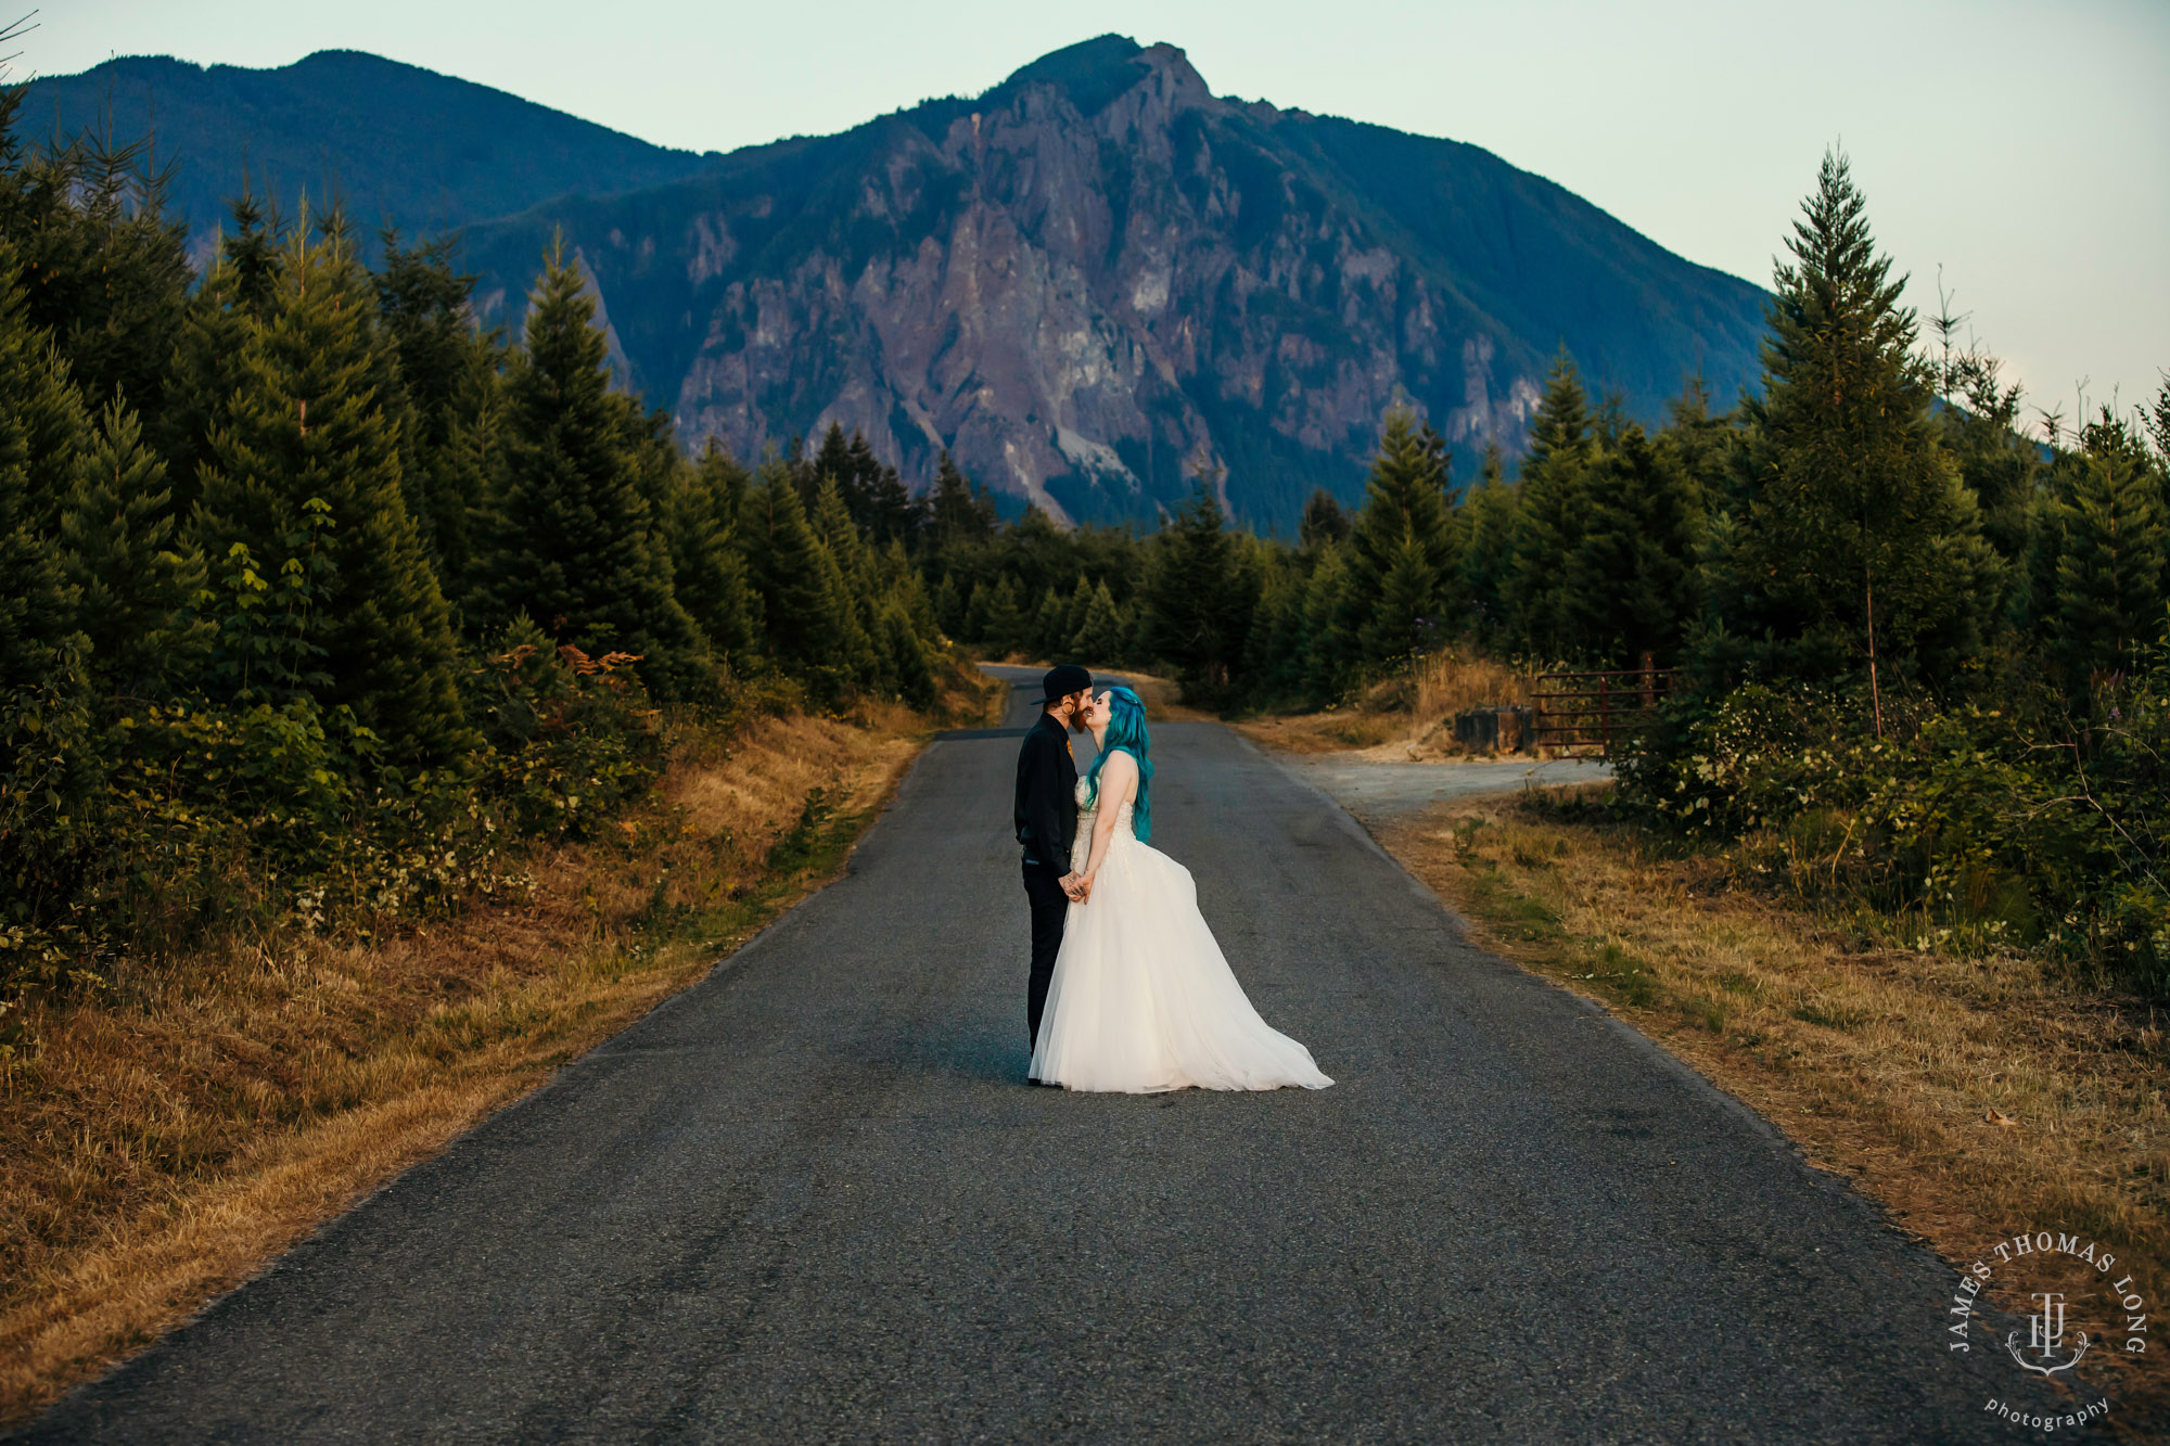
{"type": "Polygon", "coordinates": [[[2131,673],[2155,645],[2170,586],[2163,489],[2140,439],[2103,408],[2083,432],[2057,504],[2051,632],[2066,675],[2131,673]]]}

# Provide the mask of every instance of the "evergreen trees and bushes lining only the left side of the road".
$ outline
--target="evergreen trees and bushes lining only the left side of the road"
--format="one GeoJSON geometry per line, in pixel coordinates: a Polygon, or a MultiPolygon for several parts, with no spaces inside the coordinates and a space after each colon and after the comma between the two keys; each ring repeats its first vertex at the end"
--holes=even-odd
{"type": "Polygon", "coordinates": [[[369,269],[336,208],[243,195],[197,276],[143,148],[28,143],[20,100],[0,1029],[20,988],[237,916],[488,886],[501,829],[592,832],[653,777],[658,708],[935,703],[894,473],[686,456],[562,252],[519,339],[447,243],[369,269]]]}

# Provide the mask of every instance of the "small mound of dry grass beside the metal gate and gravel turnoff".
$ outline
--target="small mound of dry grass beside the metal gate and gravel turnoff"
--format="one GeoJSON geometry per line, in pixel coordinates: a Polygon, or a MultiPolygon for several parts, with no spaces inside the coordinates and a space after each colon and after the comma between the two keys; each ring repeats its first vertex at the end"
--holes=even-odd
{"type": "Polygon", "coordinates": [[[1454,714],[1530,697],[1530,675],[1465,651],[1426,658],[1404,677],[1371,686],[1354,703],[1324,712],[1237,723],[1256,743],[1289,753],[1365,753],[1380,762],[1458,758],[1454,714]]]}

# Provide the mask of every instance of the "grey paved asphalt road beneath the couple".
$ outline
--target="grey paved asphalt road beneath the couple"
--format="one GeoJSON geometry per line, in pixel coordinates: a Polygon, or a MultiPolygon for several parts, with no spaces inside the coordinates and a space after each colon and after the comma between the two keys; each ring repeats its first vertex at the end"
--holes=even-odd
{"type": "Polygon", "coordinates": [[[1016,743],[937,743],[846,879],[22,1439],[2012,1439],[1951,1270],[1248,743],[1154,745],[1332,1090],[1020,1083],[1016,743]]]}

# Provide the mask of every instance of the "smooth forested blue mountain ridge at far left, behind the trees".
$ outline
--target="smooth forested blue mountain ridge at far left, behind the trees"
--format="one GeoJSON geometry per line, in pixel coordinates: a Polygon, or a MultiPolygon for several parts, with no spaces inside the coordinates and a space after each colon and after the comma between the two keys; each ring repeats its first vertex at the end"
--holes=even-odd
{"type": "Polygon", "coordinates": [[[174,211],[197,258],[250,185],[289,213],[306,189],[345,202],[367,241],[380,226],[425,237],[525,211],[566,191],[605,193],[677,180],[712,158],[664,150],[532,100],[356,50],[321,50],[278,69],[106,61],[33,80],[22,132],[150,130],[176,161],[174,211]]]}

